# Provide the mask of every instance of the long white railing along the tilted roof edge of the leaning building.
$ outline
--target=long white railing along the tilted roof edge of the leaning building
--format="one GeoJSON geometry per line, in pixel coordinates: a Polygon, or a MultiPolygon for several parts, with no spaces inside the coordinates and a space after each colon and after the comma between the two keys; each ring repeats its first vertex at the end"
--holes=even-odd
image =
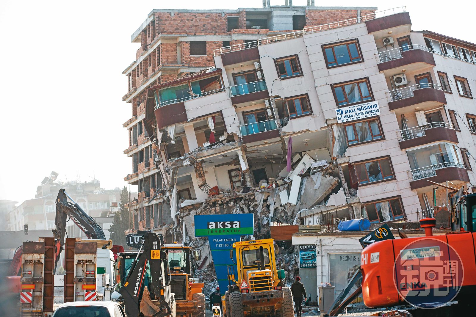
{"type": "Polygon", "coordinates": [[[254,48],[254,47],[258,47],[259,45],[279,42],[279,41],[282,41],[282,40],[290,40],[290,39],[301,38],[301,37],[304,36],[304,34],[342,28],[342,27],[345,27],[345,26],[348,26],[348,25],[363,23],[363,22],[368,21],[368,20],[374,20],[374,19],[377,19],[377,18],[382,18],[382,17],[386,17],[386,16],[389,16],[389,15],[402,13],[402,12],[407,12],[406,7],[397,7],[397,8],[393,8],[393,9],[384,10],[384,11],[377,11],[377,12],[374,12],[374,13],[369,13],[367,15],[358,17],[358,18],[352,18],[352,19],[348,19],[348,20],[332,22],[332,23],[327,23],[327,24],[323,24],[323,25],[317,25],[317,26],[302,29],[300,31],[285,33],[285,34],[279,34],[279,35],[272,36],[272,37],[269,37],[269,38],[256,40],[256,41],[253,41],[253,42],[226,46],[226,47],[222,47],[220,49],[214,50],[213,54],[215,56],[217,56],[217,55],[220,55],[220,54],[234,52],[234,51],[238,51],[238,50],[251,49],[251,48],[254,48]]]}

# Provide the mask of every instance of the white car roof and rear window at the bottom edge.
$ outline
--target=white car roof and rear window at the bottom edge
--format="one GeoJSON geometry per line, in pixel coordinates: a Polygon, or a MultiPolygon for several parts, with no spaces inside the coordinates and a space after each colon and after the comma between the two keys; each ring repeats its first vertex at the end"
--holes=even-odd
{"type": "Polygon", "coordinates": [[[126,317],[124,309],[111,301],[80,301],[65,303],[52,317],[126,317]]]}

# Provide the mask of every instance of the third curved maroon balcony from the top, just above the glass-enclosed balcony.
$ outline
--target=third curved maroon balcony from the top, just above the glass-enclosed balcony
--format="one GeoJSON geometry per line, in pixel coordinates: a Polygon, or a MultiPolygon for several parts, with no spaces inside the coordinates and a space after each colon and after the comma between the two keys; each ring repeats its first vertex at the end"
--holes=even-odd
{"type": "Polygon", "coordinates": [[[437,141],[458,143],[456,130],[453,125],[446,122],[432,122],[418,127],[398,130],[397,135],[400,149],[413,148],[437,141]]]}

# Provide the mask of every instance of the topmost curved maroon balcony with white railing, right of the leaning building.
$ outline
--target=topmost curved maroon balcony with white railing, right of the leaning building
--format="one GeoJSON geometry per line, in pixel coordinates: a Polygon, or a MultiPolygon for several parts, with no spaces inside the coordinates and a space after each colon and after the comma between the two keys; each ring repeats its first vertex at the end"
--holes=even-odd
{"type": "Polygon", "coordinates": [[[407,71],[414,71],[436,65],[433,54],[421,45],[398,47],[375,55],[378,70],[384,72],[386,76],[401,73],[404,66],[407,71]]]}

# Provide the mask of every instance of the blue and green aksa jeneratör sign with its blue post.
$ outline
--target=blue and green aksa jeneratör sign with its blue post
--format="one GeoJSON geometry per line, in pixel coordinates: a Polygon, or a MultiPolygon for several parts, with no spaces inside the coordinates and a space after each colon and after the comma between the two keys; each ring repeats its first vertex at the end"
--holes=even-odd
{"type": "Polygon", "coordinates": [[[230,258],[233,243],[241,241],[241,236],[254,234],[253,214],[196,215],[195,236],[208,237],[211,256],[217,273],[220,294],[228,290],[228,266],[233,267],[238,277],[236,253],[230,258]]]}

